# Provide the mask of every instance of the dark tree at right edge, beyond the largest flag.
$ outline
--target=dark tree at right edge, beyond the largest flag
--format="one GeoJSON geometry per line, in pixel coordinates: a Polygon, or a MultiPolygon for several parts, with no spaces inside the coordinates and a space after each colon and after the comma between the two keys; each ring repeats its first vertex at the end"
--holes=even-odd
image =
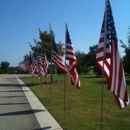
{"type": "MultiPolygon", "coordinates": [[[[130,29],[130,27],[129,27],[130,29]]],[[[125,56],[123,56],[123,66],[126,73],[130,74],[130,31],[127,35],[128,38],[128,46],[120,40],[121,47],[125,49],[125,56]]]]}

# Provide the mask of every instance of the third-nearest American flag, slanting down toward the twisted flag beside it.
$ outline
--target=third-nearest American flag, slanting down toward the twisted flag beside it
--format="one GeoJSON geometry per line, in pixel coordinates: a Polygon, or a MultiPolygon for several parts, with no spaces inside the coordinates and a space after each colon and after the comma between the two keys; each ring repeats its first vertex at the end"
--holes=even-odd
{"type": "Polygon", "coordinates": [[[52,62],[54,64],[56,64],[59,67],[59,69],[61,69],[64,73],[66,73],[67,75],[70,75],[70,73],[68,72],[68,69],[62,59],[61,54],[58,51],[54,36],[52,37],[52,40],[53,40],[52,41],[52,62]]]}

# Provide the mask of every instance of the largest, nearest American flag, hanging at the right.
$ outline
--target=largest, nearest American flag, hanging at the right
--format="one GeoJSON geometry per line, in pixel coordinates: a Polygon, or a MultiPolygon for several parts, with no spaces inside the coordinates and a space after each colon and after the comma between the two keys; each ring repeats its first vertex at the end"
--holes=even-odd
{"type": "Polygon", "coordinates": [[[104,72],[108,81],[108,90],[113,92],[119,108],[124,108],[129,104],[129,95],[109,0],[107,0],[106,5],[97,49],[96,65],[104,72]]]}

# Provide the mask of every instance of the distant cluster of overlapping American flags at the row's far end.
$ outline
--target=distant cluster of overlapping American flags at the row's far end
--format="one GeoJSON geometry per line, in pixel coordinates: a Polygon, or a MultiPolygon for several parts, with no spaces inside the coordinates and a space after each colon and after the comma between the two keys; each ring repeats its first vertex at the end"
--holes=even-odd
{"type": "Polygon", "coordinates": [[[37,45],[37,53],[29,52],[24,56],[24,61],[19,63],[20,70],[28,71],[32,76],[38,74],[39,79],[44,75],[45,82],[48,82],[48,60],[43,44],[37,45]]]}

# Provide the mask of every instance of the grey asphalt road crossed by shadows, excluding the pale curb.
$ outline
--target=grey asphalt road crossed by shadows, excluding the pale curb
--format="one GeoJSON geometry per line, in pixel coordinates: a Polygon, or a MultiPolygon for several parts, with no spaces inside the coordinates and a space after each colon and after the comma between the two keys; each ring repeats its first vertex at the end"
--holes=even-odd
{"type": "Polygon", "coordinates": [[[0,130],[40,130],[16,77],[0,75],[0,130]]]}

